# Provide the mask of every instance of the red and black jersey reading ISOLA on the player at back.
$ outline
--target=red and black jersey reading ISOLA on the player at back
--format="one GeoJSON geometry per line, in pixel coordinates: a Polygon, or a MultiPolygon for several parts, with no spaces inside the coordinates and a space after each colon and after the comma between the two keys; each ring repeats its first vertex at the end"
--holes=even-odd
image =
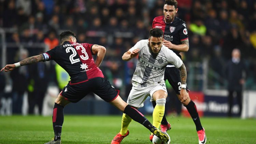
{"type": "MultiPolygon", "coordinates": [[[[159,28],[163,31],[163,39],[170,41],[175,45],[180,45],[181,41],[188,39],[186,22],[175,17],[173,22],[166,23],[164,16],[155,17],[152,23],[152,28],[159,28]]],[[[173,50],[180,58],[179,51],[173,50]]]]}

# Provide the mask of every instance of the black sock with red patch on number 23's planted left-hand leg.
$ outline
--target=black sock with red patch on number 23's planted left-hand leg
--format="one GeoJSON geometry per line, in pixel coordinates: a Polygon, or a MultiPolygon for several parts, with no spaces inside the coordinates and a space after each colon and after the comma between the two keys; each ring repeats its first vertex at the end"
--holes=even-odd
{"type": "Polygon", "coordinates": [[[53,130],[54,141],[60,140],[62,124],[64,121],[63,106],[58,103],[54,104],[53,108],[53,130]]]}

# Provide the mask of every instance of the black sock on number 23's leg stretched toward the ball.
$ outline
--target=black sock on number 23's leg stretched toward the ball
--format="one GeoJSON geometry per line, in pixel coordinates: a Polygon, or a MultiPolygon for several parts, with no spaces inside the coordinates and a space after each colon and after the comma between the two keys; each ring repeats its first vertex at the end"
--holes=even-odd
{"type": "Polygon", "coordinates": [[[134,121],[142,124],[151,132],[155,130],[154,126],[146,119],[146,117],[144,117],[142,113],[140,113],[137,109],[131,107],[130,105],[127,105],[125,107],[124,113],[129,115],[134,121]]]}

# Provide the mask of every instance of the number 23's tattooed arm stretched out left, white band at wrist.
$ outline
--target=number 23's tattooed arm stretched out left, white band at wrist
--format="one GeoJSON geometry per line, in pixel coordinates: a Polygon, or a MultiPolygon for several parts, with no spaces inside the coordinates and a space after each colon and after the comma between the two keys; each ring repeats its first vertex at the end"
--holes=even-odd
{"type": "Polygon", "coordinates": [[[35,56],[32,56],[32,57],[29,57],[29,58],[26,58],[18,63],[15,63],[15,64],[8,64],[6,65],[5,67],[3,67],[1,69],[1,71],[12,71],[14,68],[18,67],[18,66],[23,66],[23,65],[29,65],[29,64],[34,64],[34,63],[38,63],[38,62],[42,62],[44,61],[44,57],[42,54],[40,55],[35,55],[35,56]]]}

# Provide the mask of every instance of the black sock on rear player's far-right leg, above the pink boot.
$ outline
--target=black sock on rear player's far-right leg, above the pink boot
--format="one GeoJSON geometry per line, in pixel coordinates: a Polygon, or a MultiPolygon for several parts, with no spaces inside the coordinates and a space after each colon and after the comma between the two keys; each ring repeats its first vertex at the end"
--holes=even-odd
{"type": "Polygon", "coordinates": [[[185,107],[187,108],[190,116],[192,117],[192,119],[193,119],[193,121],[194,121],[194,123],[196,125],[196,130],[197,131],[202,130],[203,127],[201,125],[200,118],[199,118],[199,115],[198,115],[195,103],[192,100],[190,100],[188,105],[185,106],[185,107]]]}

